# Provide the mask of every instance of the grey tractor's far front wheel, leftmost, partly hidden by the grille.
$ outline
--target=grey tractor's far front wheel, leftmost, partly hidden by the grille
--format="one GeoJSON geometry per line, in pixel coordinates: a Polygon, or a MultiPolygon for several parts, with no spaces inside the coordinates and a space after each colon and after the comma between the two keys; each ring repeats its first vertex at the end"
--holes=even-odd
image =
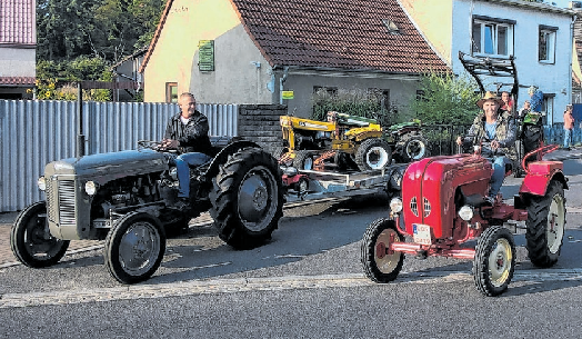
{"type": "Polygon", "coordinates": [[[69,242],[51,236],[44,201],[24,208],[10,231],[12,253],[20,262],[31,268],[43,268],[59,262],[67,252],[69,242]]]}

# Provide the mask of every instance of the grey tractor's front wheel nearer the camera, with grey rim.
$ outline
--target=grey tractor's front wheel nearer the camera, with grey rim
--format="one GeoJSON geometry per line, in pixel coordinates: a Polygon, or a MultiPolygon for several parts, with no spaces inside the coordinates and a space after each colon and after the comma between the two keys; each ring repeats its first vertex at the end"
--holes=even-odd
{"type": "Polygon", "coordinates": [[[130,212],[113,225],[106,238],[106,266],[121,283],[149,279],[162,262],[165,232],[161,222],[146,212],[130,212]]]}

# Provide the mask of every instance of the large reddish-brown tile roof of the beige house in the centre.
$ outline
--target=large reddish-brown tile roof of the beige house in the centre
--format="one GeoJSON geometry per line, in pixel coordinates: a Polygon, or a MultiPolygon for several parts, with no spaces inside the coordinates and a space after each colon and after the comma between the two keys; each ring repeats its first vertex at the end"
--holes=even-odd
{"type": "MultiPolygon", "coordinates": [[[[421,72],[449,71],[397,0],[231,0],[271,67],[421,72]],[[384,22],[399,32],[390,33],[384,22]]],[[[157,44],[167,8],[148,53],[157,44]]]]}

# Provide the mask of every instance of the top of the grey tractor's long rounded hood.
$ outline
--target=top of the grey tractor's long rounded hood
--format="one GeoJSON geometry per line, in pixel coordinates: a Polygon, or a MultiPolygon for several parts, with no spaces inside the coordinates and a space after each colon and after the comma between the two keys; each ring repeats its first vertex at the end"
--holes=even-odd
{"type": "Polygon", "coordinates": [[[44,176],[79,176],[109,181],[114,178],[158,172],[168,169],[165,156],[153,150],[129,150],[120,152],[68,158],[50,162],[44,176]]]}

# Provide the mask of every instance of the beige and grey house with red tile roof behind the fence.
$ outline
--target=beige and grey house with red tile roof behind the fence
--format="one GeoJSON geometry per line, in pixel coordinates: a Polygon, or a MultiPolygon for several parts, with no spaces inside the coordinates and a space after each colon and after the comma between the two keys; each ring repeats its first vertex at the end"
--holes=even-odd
{"type": "Polygon", "coordinates": [[[168,0],[141,64],[144,101],[284,103],[320,88],[374,89],[405,106],[423,71],[450,71],[397,0],[168,0]]]}

